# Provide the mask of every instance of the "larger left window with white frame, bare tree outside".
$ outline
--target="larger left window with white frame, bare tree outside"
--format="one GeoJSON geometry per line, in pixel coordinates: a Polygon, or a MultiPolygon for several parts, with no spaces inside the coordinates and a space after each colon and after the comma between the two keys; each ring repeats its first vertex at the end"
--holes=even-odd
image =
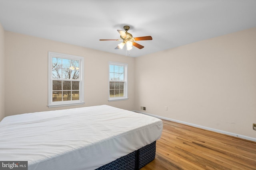
{"type": "Polygon", "coordinates": [[[48,53],[48,107],[84,104],[84,58],[48,53]]]}

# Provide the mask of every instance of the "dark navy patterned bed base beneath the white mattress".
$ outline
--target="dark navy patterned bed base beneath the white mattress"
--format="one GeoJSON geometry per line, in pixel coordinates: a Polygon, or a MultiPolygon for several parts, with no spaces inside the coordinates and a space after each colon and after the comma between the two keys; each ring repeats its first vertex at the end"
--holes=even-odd
{"type": "Polygon", "coordinates": [[[96,170],[138,170],[154,160],[156,156],[156,141],[134,152],[122,156],[96,170]]]}

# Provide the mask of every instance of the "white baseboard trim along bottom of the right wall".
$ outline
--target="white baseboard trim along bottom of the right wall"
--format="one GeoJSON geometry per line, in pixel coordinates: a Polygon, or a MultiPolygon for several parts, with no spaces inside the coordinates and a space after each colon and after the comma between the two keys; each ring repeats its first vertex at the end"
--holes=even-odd
{"type": "Polygon", "coordinates": [[[205,129],[205,130],[208,130],[208,131],[214,131],[214,132],[217,132],[217,133],[222,133],[222,134],[225,134],[225,135],[230,135],[230,136],[233,136],[233,137],[239,137],[241,139],[246,139],[246,140],[249,140],[249,141],[256,142],[256,138],[253,138],[253,137],[248,137],[248,136],[239,135],[239,134],[236,134],[236,133],[231,133],[231,132],[227,132],[227,131],[213,129],[213,128],[210,128],[210,127],[205,127],[205,126],[196,125],[196,124],[193,124],[193,123],[188,123],[188,122],[185,122],[185,121],[179,121],[179,120],[175,120],[175,119],[170,119],[168,117],[162,117],[162,116],[158,116],[158,115],[153,115],[153,114],[145,113],[145,112],[142,112],[142,111],[134,110],[134,112],[142,113],[144,115],[149,115],[149,116],[152,116],[152,117],[157,117],[159,119],[164,119],[164,120],[168,120],[168,121],[174,121],[174,122],[177,122],[177,123],[182,123],[182,124],[185,124],[185,125],[190,125],[190,126],[193,126],[193,127],[198,127],[198,128],[201,128],[201,129],[205,129]]]}

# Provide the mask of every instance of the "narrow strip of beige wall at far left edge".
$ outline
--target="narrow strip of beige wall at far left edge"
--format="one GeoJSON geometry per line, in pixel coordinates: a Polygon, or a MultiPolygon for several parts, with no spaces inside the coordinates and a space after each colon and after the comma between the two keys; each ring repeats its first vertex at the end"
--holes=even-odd
{"type": "Polygon", "coordinates": [[[4,28],[0,23],[0,121],[4,118],[4,28]]]}

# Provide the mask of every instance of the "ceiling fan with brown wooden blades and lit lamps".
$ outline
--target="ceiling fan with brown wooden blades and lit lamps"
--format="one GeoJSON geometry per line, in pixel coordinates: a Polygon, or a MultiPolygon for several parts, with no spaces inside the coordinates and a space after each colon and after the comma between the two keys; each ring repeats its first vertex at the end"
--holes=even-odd
{"type": "Polygon", "coordinates": [[[144,48],[144,46],[135,43],[134,41],[142,41],[142,40],[152,40],[151,36],[145,36],[145,37],[132,37],[132,34],[128,33],[127,31],[130,29],[129,26],[125,25],[124,30],[117,30],[118,33],[120,33],[121,39],[100,39],[100,41],[123,41],[122,43],[118,44],[118,46],[115,49],[123,49],[124,45],[126,44],[126,49],[131,50],[132,45],[134,47],[137,47],[138,49],[144,48]]]}

